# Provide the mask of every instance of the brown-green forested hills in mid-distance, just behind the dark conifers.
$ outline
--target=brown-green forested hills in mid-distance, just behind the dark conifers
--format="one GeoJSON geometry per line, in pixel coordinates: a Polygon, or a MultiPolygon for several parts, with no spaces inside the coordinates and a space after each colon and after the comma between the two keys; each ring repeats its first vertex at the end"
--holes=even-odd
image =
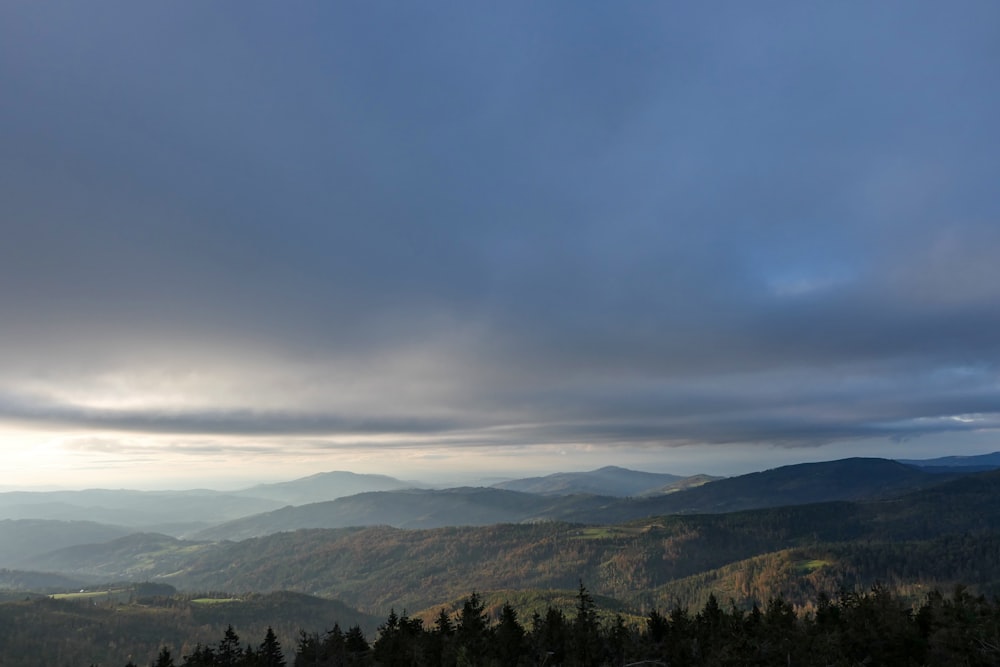
{"type": "MultiPolygon", "coordinates": [[[[877,460],[834,463],[841,472],[891,470],[877,460]]],[[[779,471],[790,478],[790,471],[779,471]]],[[[911,590],[962,582],[997,592],[1000,472],[928,477],[937,483],[863,502],[591,525],[299,530],[240,542],[133,535],[62,549],[35,563],[66,576],[162,581],[188,590],[291,589],[379,613],[390,606],[422,609],[472,587],[566,589],[580,579],[595,594],[646,608],[669,608],[712,586],[737,601],[760,602],[876,581],[911,590]]]]}

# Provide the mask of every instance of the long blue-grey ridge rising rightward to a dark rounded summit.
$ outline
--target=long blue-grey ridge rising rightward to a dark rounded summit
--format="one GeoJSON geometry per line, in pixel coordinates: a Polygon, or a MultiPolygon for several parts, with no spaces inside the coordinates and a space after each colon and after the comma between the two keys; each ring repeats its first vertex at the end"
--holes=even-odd
{"type": "MultiPolygon", "coordinates": [[[[640,480],[650,479],[648,473],[634,473],[620,468],[614,469],[608,476],[628,480],[630,473],[640,480]]],[[[586,480],[588,474],[592,473],[581,473],[583,477],[576,479],[586,480]]],[[[939,474],[897,461],[856,458],[784,466],[717,479],[674,493],[635,498],[588,494],[540,495],[498,488],[383,491],[243,517],[206,528],[193,537],[200,540],[242,540],[303,528],[374,525],[437,528],[538,521],[615,523],[662,514],[733,512],[831,500],[879,498],[942,481],[939,474]]],[[[535,481],[530,484],[541,485],[535,481]]],[[[619,484],[618,488],[623,486],[619,484]]]]}

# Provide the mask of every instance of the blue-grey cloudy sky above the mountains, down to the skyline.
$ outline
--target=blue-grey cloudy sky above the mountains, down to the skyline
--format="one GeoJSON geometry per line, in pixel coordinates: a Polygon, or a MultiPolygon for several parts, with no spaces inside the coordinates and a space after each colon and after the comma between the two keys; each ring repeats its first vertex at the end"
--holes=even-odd
{"type": "Polygon", "coordinates": [[[4,2],[0,486],[1000,450],[1000,4],[4,2]]]}

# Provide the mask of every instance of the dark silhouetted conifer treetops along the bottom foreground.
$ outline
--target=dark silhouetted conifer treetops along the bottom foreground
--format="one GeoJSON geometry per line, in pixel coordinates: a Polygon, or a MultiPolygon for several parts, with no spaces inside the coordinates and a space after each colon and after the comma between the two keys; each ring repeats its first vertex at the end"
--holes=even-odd
{"type": "MultiPolygon", "coordinates": [[[[373,637],[357,624],[300,631],[287,648],[269,626],[243,642],[232,625],[221,639],[163,645],[151,667],[603,667],[620,665],[956,665],[1000,663],[1000,604],[963,588],[936,591],[914,608],[886,587],[821,594],[804,611],[781,598],[749,609],[720,604],[602,615],[581,583],[574,608],[522,619],[510,604],[488,613],[472,593],[431,622],[391,611],[373,637]]],[[[9,648],[5,651],[9,656],[9,648]]],[[[79,664],[35,655],[3,664],[79,664]]],[[[110,664],[110,663],[109,663],[110,664]]],[[[126,667],[142,662],[129,660],[126,667]]]]}

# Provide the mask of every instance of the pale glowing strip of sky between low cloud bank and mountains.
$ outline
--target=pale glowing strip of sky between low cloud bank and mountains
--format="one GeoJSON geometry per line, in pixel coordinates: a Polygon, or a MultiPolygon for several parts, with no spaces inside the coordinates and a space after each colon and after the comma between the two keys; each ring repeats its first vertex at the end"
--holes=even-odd
{"type": "Polygon", "coordinates": [[[342,470],[381,474],[431,486],[467,485],[486,480],[539,477],[557,472],[583,472],[613,465],[677,475],[734,476],[795,463],[850,457],[900,459],[973,456],[1000,450],[992,437],[964,435],[947,454],[935,438],[900,443],[858,440],[836,447],[764,448],[744,445],[686,445],[670,448],[594,447],[593,445],[534,445],[499,449],[482,447],[317,446],[315,439],[286,441],[276,453],[274,441],[240,439],[236,445],[211,438],[178,442],[171,437],[74,433],[0,433],[0,447],[13,450],[10,470],[0,491],[127,488],[237,490],[255,484],[290,481],[320,472],[342,470]],[[80,452],[80,444],[88,446],[80,452]],[[94,449],[104,449],[94,453],[94,449]],[[214,451],[213,451],[214,450],[214,451]],[[236,456],[234,451],[242,452],[236,456]],[[142,457],[145,457],[143,459],[142,457]]]}

